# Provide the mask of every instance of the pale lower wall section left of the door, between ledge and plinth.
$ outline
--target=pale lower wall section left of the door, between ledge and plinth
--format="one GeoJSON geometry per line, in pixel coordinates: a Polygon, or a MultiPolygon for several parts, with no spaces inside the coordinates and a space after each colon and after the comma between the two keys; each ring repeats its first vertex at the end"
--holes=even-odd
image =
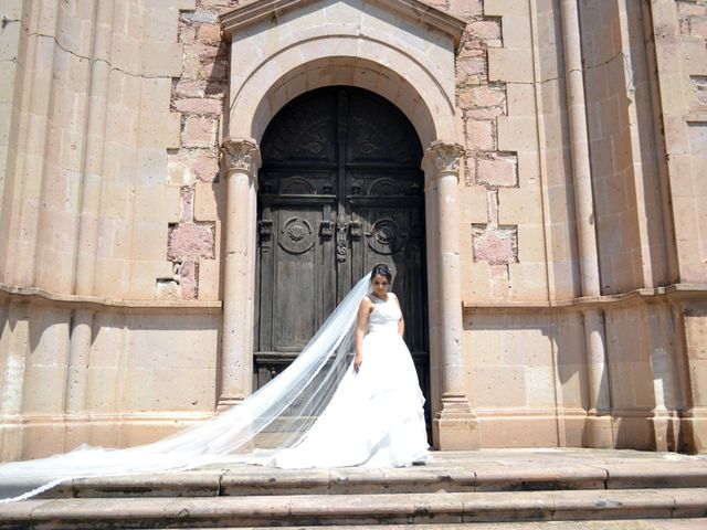
{"type": "Polygon", "coordinates": [[[156,311],[6,305],[0,411],[213,412],[220,315],[156,311]]]}

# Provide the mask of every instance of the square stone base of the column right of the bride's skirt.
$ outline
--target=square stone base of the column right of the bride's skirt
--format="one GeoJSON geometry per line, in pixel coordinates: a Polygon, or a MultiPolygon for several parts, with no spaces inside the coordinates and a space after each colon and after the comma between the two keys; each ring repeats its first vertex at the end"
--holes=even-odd
{"type": "Polygon", "coordinates": [[[464,396],[442,398],[442,410],[432,422],[434,447],[440,451],[478,449],[478,420],[464,396]]]}

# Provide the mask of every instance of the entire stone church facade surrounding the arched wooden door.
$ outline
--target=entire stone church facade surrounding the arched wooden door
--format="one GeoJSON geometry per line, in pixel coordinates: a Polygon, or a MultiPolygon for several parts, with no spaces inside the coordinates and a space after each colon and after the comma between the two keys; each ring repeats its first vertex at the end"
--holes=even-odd
{"type": "Polygon", "coordinates": [[[441,448],[707,451],[707,2],[0,3],[0,458],[252,391],[258,141],[371,89],[425,157],[441,448]]]}

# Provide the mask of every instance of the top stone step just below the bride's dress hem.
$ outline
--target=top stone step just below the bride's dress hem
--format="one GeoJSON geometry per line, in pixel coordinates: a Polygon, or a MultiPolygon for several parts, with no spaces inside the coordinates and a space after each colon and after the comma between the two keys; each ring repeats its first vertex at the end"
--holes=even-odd
{"type": "Polygon", "coordinates": [[[42,498],[233,497],[707,487],[707,460],[431,463],[398,469],[288,470],[236,466],[64,484],[42,498]]]}

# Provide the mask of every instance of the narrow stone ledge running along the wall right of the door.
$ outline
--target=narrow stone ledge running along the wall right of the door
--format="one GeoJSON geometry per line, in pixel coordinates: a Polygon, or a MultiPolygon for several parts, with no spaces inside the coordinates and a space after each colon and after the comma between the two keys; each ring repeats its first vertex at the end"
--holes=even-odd
{"type": "Polygon", "coordinates": [[[462,301],[464,312],[518,309],[577,309],[584,310],[606,305],[631,305],[639,301],[661,303],[664,299],[705,299],[707,298],[707,284],[673,284],[666,287],[646,287],[620,295],[588,296],[564,300],[500,300],[500,301],[462,301]]]}

